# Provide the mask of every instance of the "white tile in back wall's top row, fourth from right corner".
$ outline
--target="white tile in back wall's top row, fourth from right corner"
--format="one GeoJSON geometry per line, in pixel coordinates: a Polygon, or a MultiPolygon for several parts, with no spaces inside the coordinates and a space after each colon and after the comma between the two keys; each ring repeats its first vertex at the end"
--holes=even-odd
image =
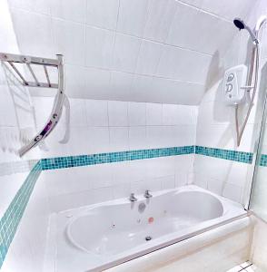
{"type": "Polygon", "coordinates": [[[145,103],[128,102],[128,116],[130,126],[145,126],[145,103]]]}

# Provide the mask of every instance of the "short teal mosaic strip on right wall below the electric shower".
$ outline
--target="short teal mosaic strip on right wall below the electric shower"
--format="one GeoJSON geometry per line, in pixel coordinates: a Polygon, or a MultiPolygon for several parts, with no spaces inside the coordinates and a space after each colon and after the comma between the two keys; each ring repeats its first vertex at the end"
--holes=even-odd
{"type": "Polygon", "coordinates": [[[200,154],[223,160],[233,160],[243,163],[252,163],[253,157],[253,154],[251,152],[213,149],[203,146],[195,146],[195,154],[200,154]]]}

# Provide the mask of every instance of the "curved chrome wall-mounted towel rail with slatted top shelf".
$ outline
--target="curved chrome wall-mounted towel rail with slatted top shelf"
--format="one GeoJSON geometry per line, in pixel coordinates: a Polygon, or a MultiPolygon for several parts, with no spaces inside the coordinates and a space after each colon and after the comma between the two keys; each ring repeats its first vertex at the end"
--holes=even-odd
{"type": "Polygon", "coordinates": [[[15,72],[16,78],[26,87],[38,87],[38,88],[54,88],[57,89],[57,93],[54,98],[53,110],[50,114],[48,121],[44,125],[44,129],[35,135],[32,141],[29,141],[24,147],[22,147],[18,154],[20,157],[25,155],[26,152],[38,145],[40,141],[43,141],[54,130],[54,127],[60,120],[63,105],[64,105],[64,57],[61,54],[57,54],[57,59],[47,59],[41,57],[25,56],[13,53],[0,53],[0,61],[9,63],[15,72]],[[26,69],[32,75],[34,81],[28,81],[23,72],[19,71],[15,63],[25,64],[26,69]],[[35,75],[35,69],[32,64],[43,65],[46,83],[42,83],[35,75]],[[57,68],[58,80],[57,83],[51,83],[47,66],[57,68]]]}

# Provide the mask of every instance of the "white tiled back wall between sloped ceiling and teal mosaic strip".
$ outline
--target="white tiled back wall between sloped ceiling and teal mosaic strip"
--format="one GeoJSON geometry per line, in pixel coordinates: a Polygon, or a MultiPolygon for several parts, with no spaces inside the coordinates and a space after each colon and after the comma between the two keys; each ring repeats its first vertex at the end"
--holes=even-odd
{"type": "MultiPolygon", "coordinates": [[[[42,158],[193,145],[196,106],[70,99],[70,121],[64,111],[46,139],[42,158]],[[69,132],[68,132],[69,131],[69,132]],[[63,139],[69,140],[62,142],[63,139]]],[[[53,100],[34,97],[41,129],[53,100]]]]}

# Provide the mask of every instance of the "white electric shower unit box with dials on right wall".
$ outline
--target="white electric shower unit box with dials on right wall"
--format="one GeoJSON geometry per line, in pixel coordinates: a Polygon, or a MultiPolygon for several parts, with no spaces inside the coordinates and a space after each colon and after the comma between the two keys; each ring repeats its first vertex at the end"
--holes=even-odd
{"type": "Polygon", "coordinates": [[[226,104],[237,105],[245,102],[247,72],[248,68],[244,64],[234,66],[225,71],[223,92],[226,104]]]}

